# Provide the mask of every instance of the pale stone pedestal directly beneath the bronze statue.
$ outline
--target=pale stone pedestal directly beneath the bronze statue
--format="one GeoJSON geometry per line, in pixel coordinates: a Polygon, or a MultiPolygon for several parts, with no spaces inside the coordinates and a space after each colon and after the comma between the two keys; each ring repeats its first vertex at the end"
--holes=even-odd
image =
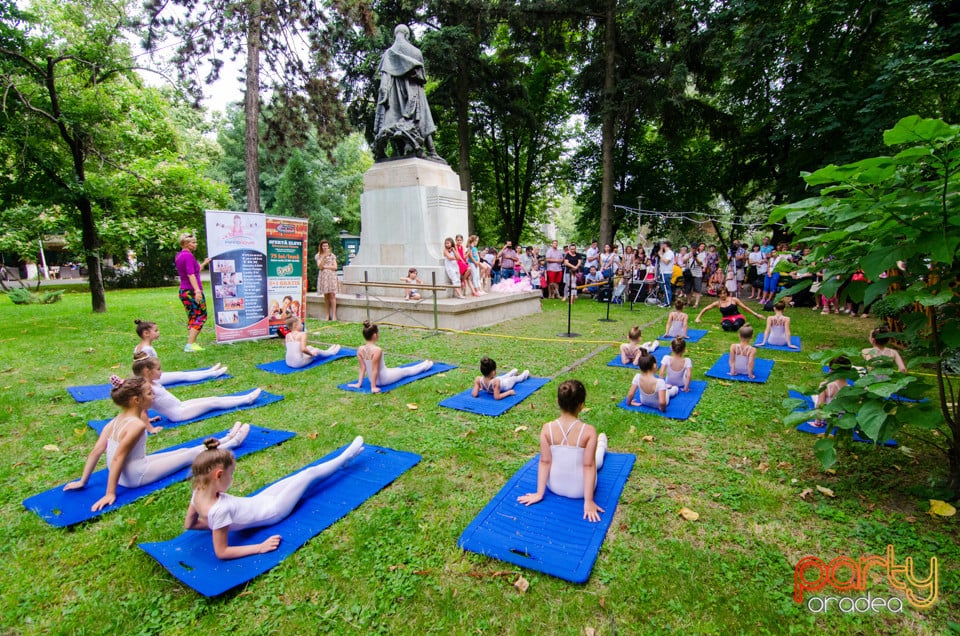
{"type": "MultiPolygon", "coordinates": [[[[411,267],[430,284],[450,281],[443,269],[443,240],[467,233],[467,193],[450,166],[415,157],[374,164],[363,175],[360,251],[343,268],[344,292],[362,294],[370,281],[399,283],[411,267]]],[[[373,288],[370,294],[402,297],[400,288],[373,288]]],[[[444,292],[443,297],[452,292],[444,292]]]]}

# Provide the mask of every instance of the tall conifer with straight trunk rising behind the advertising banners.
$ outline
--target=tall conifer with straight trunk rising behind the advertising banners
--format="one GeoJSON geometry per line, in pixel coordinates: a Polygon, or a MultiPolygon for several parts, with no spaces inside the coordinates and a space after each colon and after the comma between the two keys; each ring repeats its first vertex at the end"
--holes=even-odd
{"type": "Polygon", "coordinates": [[[223,57],[246,51],[245,185],[247,209],[262,211],[260,198],[261,81],[266,79],[271,108],[265,112],[266,142],[273,147],[302,146],[312,129],[316,140],[332,148],[345,135],[346,117],[332,65],[338,34],[327,28],[338,13],[341,29],[372,26],[366,0],[147,0],[151,15],[145,39],[157,49],[164,37],[180,44],[174,62],[181,81],[199,101],[200,71],[205,81],[219,78],[223,57]]]}

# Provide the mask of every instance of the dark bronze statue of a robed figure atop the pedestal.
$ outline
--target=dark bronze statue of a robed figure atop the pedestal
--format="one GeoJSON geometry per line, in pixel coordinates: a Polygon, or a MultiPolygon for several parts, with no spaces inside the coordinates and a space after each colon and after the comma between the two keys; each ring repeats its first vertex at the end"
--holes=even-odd
{"type": "Polygon", "coordinates": [[[394,157],[440,159],[433,145],[437,127],[423,90],[427,82],[423,54],[407,40],[410,29],[406,25],[398,25],[393,34],[393,46],[384,52],[377,68],[380,92],[373,121],[374,158],[386,159],[387,145],[391,144],[394,157]]]}

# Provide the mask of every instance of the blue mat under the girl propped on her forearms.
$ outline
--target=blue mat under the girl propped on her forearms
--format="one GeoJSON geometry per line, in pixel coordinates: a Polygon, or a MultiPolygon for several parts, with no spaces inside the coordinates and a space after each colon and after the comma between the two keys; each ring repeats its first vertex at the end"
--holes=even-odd
{"type": "MultiPolygon", "coordinates": [[[[332,459],[344,448],[310,466],[332,459]]],[[[273,568],[419,461],[420,456],[413,453],[368,445],[342,470],[314,484],[279,523],[230,533],[232,545],[259,543],[279,534],[280,547],[273,552],[221,561],[213,552],[211,533],[203,530],[187,530],[169,541],[139,546],[184,585],[204,596],[223,594],[273,568]]],[[[349,559],[349,553],[344,558],[349,559]]]]}

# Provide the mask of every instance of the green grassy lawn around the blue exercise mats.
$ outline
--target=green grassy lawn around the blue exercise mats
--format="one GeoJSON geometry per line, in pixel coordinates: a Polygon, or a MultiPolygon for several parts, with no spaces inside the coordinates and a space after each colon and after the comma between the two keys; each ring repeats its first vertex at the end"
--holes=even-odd
{"type": "MultiPolygon", "coordinates": [[[[361,395],[336,388],[356,378],[349,360],[287,376],[256,369],[283,356],[276,340],[184,353],[183,310],[172,288],[112,292],[107,302],[109,313],[95,315],[85,293],[49,306],[0,299],[3,633],[960,632],[960,524],[957,517],[925,514],[945,460],[909,441],[913,457],[857,445],[828,473],[813,456],[814,438],[782,424],[786,385],[820,373],[807,353],[865,346],[873,320],[794,310],[793,332],[803,337],[804,353],[761,352],[776,360],[768,383],[711,380],[694,416],[676,421],[617,408],[632,372],[606,366],[632,324],[659,319],[644,329],[647,337],[659,335],[661,309],[614,307],[616,322],[606,323],[598,320],[602,306],[578,302],[573,331],[581,337],[572,340],[555,338],[566,331],[559,301],[545,301],[540,315],[471,334],[383,327],[391,366],[429,357],[459,368],[385,395],[361,395]],[[181,399],[254,386],[286,396],[243,414],[244,421],[297,437],[240,460],[233,494],[249,493],[358,434],[423,461],[269,573],[210,600],[136,548],[181,532],[188,482],[72,529],[49,527],[20,502],[79,476],[95,441],[86,420],[116,412],[110,402],[77,404],[64,387],[127,373],[137,342],[134,318],[159,323],[166,369],[229,365],[234,378],[175,389],[181,399]],[[499,418],[438,407],[470,385],[482,355],[503,370],[582,380],[589,409],[583,419],[608,434],[611,450],[637,455],[586,585],[457,548],[467,524],[537,452],[540,426],[557,414],[556,382],[499,418]],[[55,449],[44,448],[50,445],[55,449]],[[818,485],[836,497],[817,492],[818,485]],[[801,499],[807,488],[814,493],[801,499]],[[685,521],[681,507],[700,519],[685,521]],[[856,559],[882,555],[888,544],[898,563],[913,557],[920,576],[931,557],[939,559],[940,600],[932,609],[904,601],[900,614],[844,614],[836,605],[814,614],[793,601],[793,567],[804,556],[856,559]],[[530,582],[525,594],[513,586],[518,575],[530,582]]],[[[719,330],[716,312],[707,317],[697,326],[710,334],[688,348],[694,379],[703,379],[732,341],[719,330]]],[[[362,342],[356,324],[312,321],[307,329],[315,344],[362,342]]],[[[209,343],[212,328],[205,333],[209,343]]],[[[222,430],[234,419],[163,431],[148,451],[222,430]]],[[[868,590],[873,597],[900,594],[878,570],[868,590]]]]}

